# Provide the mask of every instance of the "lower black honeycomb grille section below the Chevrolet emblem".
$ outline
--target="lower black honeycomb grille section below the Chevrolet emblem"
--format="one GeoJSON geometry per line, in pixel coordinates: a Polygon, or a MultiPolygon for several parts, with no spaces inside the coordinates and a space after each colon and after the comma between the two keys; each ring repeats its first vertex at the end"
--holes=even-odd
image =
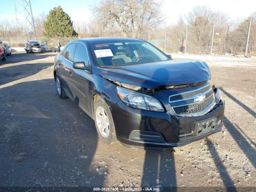
{"type": "Polygon", "coordinates": [[[185,106],[178,106],[178,107],[174,107],[173,109],[176,114],[193,114],[206,109],[208,106],[210,106],[213,100],[214,100],[214,95],[212,94],[202,102],[189,104],[185,106]]]}

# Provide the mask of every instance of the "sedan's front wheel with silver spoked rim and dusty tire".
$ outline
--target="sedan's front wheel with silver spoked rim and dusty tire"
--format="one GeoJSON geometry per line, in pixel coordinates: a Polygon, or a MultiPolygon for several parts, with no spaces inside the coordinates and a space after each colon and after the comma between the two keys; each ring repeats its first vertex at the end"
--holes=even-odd
{"type": "Polygon", "coordinates": [[[101,140],[108,144],[116,143],[116,129],[108,104],[99,98],[94,104],[94,122],[101,140]]]}

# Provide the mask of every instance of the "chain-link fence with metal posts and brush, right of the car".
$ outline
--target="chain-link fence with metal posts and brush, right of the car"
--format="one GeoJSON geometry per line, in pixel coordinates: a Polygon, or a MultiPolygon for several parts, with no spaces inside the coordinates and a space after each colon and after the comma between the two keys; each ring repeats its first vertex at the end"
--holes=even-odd
{"type": "Polygon", "coordinates": [[[162,30],[151,30],[148,38],[144,36],[144,39],[149,39],[165,52],[256,56],[256,21],[248,19],[236,28],[214,24],[179,24],[162,30]]]}

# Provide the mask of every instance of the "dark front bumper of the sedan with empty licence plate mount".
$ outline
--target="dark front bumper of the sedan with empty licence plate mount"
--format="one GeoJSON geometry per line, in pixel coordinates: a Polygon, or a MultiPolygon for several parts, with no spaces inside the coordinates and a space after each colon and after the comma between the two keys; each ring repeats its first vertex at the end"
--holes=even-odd
{"type": "MultiPolygon", "coordinates": [[[[215,98],[217,89],[213,86],[215,98]]],[[[118,140],[142,147],[182,146],[222,129],[223,100],[214,102],[210,111],[197,116],[179,116],[168,110],[153,112],[131,108],[120,101],[110,106],[118,140]],[[202,129],[202,126],[205,126],[202,129]],[[202,131],[203,130],[203,131],[202,131]]]]}

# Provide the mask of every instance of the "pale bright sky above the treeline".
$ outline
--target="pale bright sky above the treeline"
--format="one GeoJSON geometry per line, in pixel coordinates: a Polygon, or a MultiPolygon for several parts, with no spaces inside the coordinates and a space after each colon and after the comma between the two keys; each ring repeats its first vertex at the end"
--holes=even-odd
{"type": "MultiPolygon", "coordinates": [[[[22,0],[16,0],[22,2],[22,0]]],[[[48,14],[55,6],[60,5],[71,16],[74,22],[89,20],[92,16],[90,5],[99,0],[30,0],[34,17],[48,14]]],[[[0,0],[0,20],[15,20],[14,0],[0,0]]],[[[17,5],[17,3],[16,3],[17,5]]],[[[226,12],[231,20],[247,18],[256,12],[256,0],[164,0],[162,11],[167,24],[175,24],[180,16],[191,11],[194,6],[208,5],[212,10],[226,12]]],[[[18,7],[18,6],[17,6],[18,7]]],[[[18,18],[21,17],[18,14],[18,18]]],[[[22,19],[21,19],[22,20],[22,19]]]]}

